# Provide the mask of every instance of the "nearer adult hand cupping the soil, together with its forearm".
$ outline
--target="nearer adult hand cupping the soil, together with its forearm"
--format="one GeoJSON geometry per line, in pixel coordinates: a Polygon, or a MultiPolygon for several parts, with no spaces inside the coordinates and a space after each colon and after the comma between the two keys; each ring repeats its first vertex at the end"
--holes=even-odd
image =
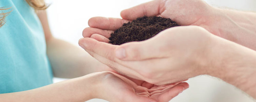
{"type": "Polygon", "coordinates": [[[163,85],[208,74],[256,98],[256,52],[198,26],[167,29],[155,37],[123,45],[93,38],[79,41],[90,55],[123,74],[163,85]]]}

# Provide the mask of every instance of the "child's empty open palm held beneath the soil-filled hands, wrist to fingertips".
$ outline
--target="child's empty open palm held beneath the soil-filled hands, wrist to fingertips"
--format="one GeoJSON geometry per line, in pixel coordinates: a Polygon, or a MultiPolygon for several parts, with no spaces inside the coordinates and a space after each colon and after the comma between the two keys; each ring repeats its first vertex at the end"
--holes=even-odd
{"type": "Polygon", "coordinates": [[[189,87],[184,82],[155,86],[113,72],[99,72],[94,76],[97,74],[101,77],[96,89],[100,94],[96,98],[110,102],[168,102],[189,87]],[[142,82],[144,85],[138,85],[142,82]]]}

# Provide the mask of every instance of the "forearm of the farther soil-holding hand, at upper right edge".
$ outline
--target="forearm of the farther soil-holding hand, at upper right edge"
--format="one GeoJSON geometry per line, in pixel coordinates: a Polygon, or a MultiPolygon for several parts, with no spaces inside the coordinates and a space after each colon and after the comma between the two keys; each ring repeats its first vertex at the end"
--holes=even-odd
{"type": "Polygon", "coordinates": [[[215,8],[220,36],[256,50],[256,13],[215,8]]]}

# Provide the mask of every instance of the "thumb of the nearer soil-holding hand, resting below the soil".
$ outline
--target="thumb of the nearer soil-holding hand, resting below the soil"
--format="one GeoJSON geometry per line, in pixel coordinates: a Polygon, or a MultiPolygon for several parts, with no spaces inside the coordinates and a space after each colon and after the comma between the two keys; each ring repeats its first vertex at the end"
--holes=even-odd
{"type": "Polygon", "coordinates": [[[125,61],[162,58],[167,55],[166,49],[164,43],[158,38],[153,38],[120,45],[115,49],[115,57],[125,61]]]}

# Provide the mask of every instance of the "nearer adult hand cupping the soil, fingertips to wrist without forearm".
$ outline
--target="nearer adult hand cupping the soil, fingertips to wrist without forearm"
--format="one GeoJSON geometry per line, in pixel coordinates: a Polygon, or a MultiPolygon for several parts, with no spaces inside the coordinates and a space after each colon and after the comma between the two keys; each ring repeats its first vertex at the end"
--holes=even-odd
{"type": "Polygon", "coordinates": [[[145,41],[120,46],[93,38],[82,38],[79,44],[121,74],[164,85],[207,74],[212,36],[201,27],[182,26],[167,29],[145,41]]]}

